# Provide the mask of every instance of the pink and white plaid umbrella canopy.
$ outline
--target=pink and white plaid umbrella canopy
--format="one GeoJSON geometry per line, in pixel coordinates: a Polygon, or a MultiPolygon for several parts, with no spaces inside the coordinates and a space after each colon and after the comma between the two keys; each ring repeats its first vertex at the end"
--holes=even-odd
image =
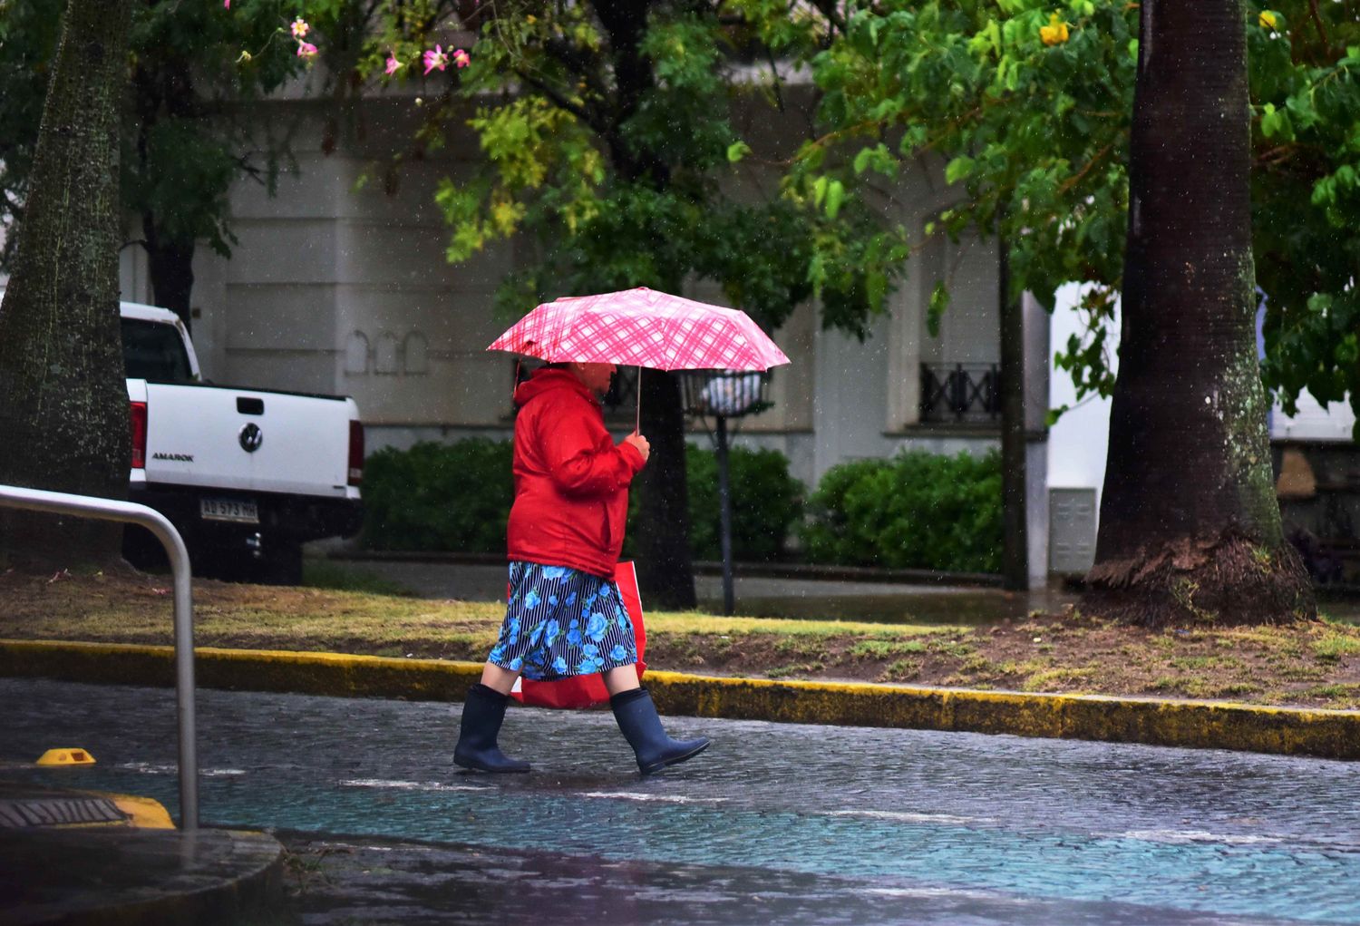
{"type": "Polygon", "coordinates": [[[646,287],[545,302],[487,349],[653,370],[768,370],[789,362],[747,313],[646,287]]]}

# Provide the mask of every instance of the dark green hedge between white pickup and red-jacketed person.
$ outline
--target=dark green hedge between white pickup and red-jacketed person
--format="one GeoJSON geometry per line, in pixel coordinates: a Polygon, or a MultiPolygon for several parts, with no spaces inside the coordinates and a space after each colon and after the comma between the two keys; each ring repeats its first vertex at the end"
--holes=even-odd
{"type": "Polygon", "coordinates": [[[487,438],[374,453],[363,465],[363,545],[505,552],[510,461],[510,442],[487,438]]]}

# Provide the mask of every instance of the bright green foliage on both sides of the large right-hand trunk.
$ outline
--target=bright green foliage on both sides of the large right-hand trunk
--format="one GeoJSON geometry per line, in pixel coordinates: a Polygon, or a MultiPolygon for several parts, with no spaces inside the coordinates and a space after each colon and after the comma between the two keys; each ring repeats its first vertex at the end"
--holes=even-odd
{"type": "MultiPolygon", "coordinates": [[[[815,284],[826,286],[849,254],[874,254],[855,265],[855,286],[874,271],[900,277],[902,267],[876,262],[887,249],[864,249],[854,235],[911,249],[966,228],[996,235],[1009,253],[1012,295],[1028,290],[1051,305],[1064,283],[1088,284],[1078,307],[1085,328],[1058,364],[1078,397],[1108,394],[1138,14],[1117,0],[849,4],[843,34],[812,60],[824,94],[820,137],[800,152],[786,194],[826,218],[839,179],[845,203],[858,209],[868,174],[891,177],[919,158],[941,171],[956,200],[910,234],[827,224],[813,243],[815,284]]],[[[1356,396],[1360,367],[1344,358],[1349,336],[1360,336],[1360,20],[1353,4],[1308,0],[1269,11],[1251,4],[1246,16],[1255,268],[1269,294],[1266,381],[1287,400],[1303,388],[1315,397],[1356,396]],[[1312,294],[1329,301],[1308,310],[1312,294]]],[[[948,281],[930,283],[933,329],[948,306],[948,281]]]]}

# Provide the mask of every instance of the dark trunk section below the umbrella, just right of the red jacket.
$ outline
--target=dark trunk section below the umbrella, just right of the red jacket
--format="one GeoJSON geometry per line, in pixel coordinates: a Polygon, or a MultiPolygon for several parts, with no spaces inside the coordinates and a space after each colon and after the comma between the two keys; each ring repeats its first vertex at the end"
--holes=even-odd
{"type": "Polygon", "coordinates": [[[638,480],[638,522],[631,525],[638,549],[638,585],[654,606],[690,609],[696,600],[690,559],[684,408],[680,385],[669,373],[642,371],[642,434],[651,442],[651,456],[638,480]]]}

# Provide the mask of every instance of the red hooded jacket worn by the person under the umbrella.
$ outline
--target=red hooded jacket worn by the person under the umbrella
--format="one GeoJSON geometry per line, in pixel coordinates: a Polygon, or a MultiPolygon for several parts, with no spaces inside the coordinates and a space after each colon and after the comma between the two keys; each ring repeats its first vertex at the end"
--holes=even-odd
{"type": "Polygon", "coordinates": [[[642,454],[613,443],[600,401],[570,370],[537,370],[514,401],[510,559],[613,578],[642,454]]]}

